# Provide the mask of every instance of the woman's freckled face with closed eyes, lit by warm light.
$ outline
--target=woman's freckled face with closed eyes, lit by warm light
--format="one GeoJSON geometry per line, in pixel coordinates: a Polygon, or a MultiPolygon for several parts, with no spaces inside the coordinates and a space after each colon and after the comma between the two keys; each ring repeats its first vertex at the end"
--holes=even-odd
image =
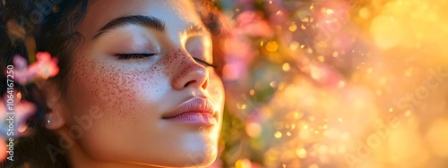
{"type": "Polygon", "coordinates": [[[224,93],[193,3],[98,0],[78,31],[84,39],[73,55],[62,129],[74,140],[73,164],[214,161],[224,93]]]}

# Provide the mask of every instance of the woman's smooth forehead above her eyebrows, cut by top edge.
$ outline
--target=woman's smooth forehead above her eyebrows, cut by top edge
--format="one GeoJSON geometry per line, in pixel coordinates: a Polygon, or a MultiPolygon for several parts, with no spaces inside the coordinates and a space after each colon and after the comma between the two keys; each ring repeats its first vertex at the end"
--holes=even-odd
{"type": "Polygon", "coordinates": [[[181,31],[185,25],[201,21],[188,0],[96,0],[89,4],[78,30],[91,38],[109,21],[130,15],[156,17],[165,22],[168,31],[181,31]]]}

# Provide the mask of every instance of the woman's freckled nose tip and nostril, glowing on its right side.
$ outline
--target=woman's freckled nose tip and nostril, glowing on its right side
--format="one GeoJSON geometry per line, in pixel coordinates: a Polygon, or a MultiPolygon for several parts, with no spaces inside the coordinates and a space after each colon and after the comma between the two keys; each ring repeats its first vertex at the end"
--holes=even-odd
{"type": "Polygon", "coordinates": [[[209,71],[201,64],[196,63],[193,57],[183,52],[184,55],[178,55],[182,59],[180,66],[177,67],[177,73],[172,80],[172,87],[181,90],[184,88],[202,88],[206,89],[209,84],[209,71]]]}

